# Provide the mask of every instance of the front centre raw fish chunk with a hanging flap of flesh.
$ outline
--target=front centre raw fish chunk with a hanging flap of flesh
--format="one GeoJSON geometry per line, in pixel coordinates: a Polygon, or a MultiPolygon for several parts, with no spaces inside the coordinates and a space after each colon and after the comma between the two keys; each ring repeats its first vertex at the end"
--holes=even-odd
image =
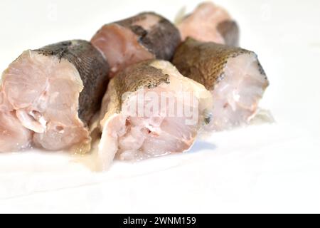
{"type": "Polygon", "coordinates": [[[112,78],[102,100],[100,165],[105,170],[114,157],[141,160],[188,150],[198,130],[210,122],[211,108],[211,93],[168,61],[127,67],[112,78]],[[162,103],[162,98],[171,101],[162,103]]]}

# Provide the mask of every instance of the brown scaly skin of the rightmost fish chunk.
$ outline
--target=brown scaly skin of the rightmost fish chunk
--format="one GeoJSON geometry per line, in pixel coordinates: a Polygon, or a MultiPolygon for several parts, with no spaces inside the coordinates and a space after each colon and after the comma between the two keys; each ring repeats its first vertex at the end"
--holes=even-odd
{"type": "MultiPolygon", "coordinates": [[[[219,81],[223,80],[228,59],[244,53],[253,52],[235,46],[200,42],[193,38],[187,38],[178,46],[173,63],[183,76],[203,84],[208,90],[213,90],[219,81]]],[[[257,64],[260,73],[267,80],[261,64],[259,62],[257,64]]]]}

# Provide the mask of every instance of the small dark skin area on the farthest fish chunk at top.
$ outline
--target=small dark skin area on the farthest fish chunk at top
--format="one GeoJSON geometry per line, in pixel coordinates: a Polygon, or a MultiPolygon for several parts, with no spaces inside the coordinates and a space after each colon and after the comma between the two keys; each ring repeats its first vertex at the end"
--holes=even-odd
{"type": "Polygon", "coordinates": [[[223,21],[218,24],[217,28],[225,39],[226,45],[239,46],[240,31],[239,26],[235,21],[223,21]]]}

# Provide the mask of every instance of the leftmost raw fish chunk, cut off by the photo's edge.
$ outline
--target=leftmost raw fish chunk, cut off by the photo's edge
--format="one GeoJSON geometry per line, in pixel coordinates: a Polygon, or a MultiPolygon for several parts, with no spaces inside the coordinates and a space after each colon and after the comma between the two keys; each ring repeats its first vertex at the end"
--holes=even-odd
{"type": "Polygon", "coordinates": [[[105,58],[87,41],[24,51],[1,78],[0,151],[88,145],[87,127],[100,109],[108,71],[105,58]]]}

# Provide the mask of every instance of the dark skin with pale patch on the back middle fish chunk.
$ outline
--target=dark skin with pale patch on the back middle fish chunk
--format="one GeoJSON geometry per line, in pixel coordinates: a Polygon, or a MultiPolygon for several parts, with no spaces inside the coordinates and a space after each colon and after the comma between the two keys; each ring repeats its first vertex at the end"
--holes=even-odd
{"type": "Polygon", "coordinates": [[[117,21],[115,24],[131,29],[139,36],[139,43],[159,59],[171,60],[176,47],[181,42],[178,28],[169,20],[154,12],[143,12],[129,19],[117,21]],[[159,17],[159,22],[151,26],[149,30],[142,28],[142,26],[132,25],[134,22],[146,20],[147,15],[159,17]]]}

